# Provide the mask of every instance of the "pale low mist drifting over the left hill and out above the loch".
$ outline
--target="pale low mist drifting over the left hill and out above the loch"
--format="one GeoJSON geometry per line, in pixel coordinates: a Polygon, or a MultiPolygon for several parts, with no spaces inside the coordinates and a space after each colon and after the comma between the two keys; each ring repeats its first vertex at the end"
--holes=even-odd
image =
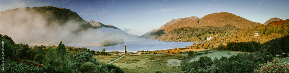
{"type": "Polygon", "coordinates": [[[113,28],[92,29],[75,12],[60,9],[60,12],[70,11],[67,15],[54,12],[54,9],[58,10],[55,7],[51,8],[40,11],[37,8],[17,8],[0,12],[0,34],[10,36],[15,43],[58,45],[62,41],[66,46],[99,44],[104,38],[129,37],[127,33],[113,28]]]}

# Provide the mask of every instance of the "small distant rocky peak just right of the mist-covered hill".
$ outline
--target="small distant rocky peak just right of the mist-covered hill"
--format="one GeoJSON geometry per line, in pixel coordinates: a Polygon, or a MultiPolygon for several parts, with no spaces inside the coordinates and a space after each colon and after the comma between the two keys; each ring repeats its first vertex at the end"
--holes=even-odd
{"type": "Polygon", "coordinates": [[[97,28],[101,28],[101,27],[107,27],[107,28],[113,28],[113,29],[121,30],[121,29],[119,29],[117,27],[114,27],[113,25],[104,25],[104,24],[102,24],[100,22],[95,22],[93,20],[90,20],[89,23],[92,25],[93,29],[97,29],[97,28]]]}

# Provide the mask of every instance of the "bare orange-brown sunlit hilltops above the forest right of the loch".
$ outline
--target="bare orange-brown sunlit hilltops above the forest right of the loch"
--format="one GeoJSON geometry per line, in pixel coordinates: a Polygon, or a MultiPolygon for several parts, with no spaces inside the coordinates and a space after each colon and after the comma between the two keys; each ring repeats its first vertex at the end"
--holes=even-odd
{"type": "Polygon", "coordinates": [[[223,27],[225,25],[233,25],[237,28],[247,29],[251,28],[252,26],[262,25],[261,23],[255,23],[235,14],[231,14],[228,12],[220,12],[220,13],[212,13],[204,16],[203,18],[199,18],[196,16],[191,16],[188,18],[178,18],[177,20],[173,19],[166,24],[162,25],[162,27],[151,30],[152,32],[158,33],[146,33],[139,38],[149,38],[155,35],[162,35],[164,33],[168,33],[177,28],[182,27],[204,27],[204,26],[214,26],[214,27],[223,27]],[[160,30],[162,30],[161,33],[160,30]],[[160,34],[159,34],[160,33],[160,34]]]}

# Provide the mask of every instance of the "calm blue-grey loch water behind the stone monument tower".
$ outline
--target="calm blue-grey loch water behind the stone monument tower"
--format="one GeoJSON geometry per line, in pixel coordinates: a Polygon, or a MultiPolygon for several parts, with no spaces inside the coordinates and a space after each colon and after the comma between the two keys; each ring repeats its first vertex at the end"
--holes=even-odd
{"type": "Polygon", "coordinates": [[[124,39],[124,44],[118,44],[115,46],[86,46],[90,50],[101,51],[102,48],[105,48],[105,51],[124,51],[124,45],[126,46],[127,52],[137,52],[138,50],[164,50],[164,49],[173,49],[183,48],[186,46],[193,45],[198,42],[166,42],[166,41],[158,41],[158,40],[150,40],[144,38],[127,38],[127,41],[124,39]]]}

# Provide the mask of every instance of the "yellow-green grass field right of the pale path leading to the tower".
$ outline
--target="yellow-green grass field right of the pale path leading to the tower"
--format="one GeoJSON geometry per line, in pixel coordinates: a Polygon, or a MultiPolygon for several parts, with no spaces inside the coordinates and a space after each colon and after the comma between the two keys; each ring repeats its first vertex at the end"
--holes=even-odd
{"type": "Polygon", "coordinates": [[[112,64],[123,69],[125,73],[154,73],[161,70],[163,73],[183,72],[180,67],[168,66],[169,59],[182,58],[181,55],[159,54],[159,55],[126,55],[114,61],[112,64]]]}

